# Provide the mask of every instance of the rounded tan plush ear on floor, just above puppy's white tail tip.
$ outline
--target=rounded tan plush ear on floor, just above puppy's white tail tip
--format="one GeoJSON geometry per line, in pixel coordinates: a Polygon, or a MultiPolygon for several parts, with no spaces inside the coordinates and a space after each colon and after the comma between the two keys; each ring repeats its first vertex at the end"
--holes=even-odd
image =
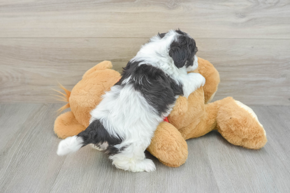
{"type": "Polygon", "coordinates": [[[59,115],[54,121],[54,133],[61,139],[77,135],[85,129],[86,127],[78,123],[71,111],[59,115]]]}

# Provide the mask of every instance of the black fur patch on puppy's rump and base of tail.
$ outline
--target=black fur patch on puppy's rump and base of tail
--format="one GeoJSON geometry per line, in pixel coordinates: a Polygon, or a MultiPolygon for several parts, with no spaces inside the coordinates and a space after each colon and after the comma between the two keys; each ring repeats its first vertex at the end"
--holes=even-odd
{"type": "Polygon", "coordinates": [[[104,150],[104,153],[107,153],[109,155],[119,153],[119,150],[114,146],[122,142],[122,139],[120,139],[120,137],[116,138],[111,136],[98,119],[94,120],[86,128],[86,130],[80,132],[77,136],[83,139],[83,146],[91,143],[99,146],[100,144],[107,142],[108,147],[104,150]]]}

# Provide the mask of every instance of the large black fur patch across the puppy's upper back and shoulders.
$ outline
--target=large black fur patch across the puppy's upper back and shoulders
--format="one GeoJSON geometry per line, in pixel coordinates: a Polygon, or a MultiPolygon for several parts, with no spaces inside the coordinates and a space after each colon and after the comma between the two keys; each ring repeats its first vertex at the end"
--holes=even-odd
{"type": "Polygon", "coordinates": [[[123,69],[120,82],[131,76],[129,84],[133,84],[136,91],[142,93],[144,98],[161,116],[168,111],[169,106],[175,103],[175,96],[183,95],[182,85],[178,85],[161,69],[150,64],[129,62],[123,69]]]}

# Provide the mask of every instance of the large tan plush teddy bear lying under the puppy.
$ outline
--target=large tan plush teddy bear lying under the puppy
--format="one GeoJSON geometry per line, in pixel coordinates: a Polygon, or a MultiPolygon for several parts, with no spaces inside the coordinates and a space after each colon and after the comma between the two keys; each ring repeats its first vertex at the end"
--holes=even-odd
{"type": "MultiPolygon", "coordinates": [[[[178,167],[185,163],[188,155],[185,140],[215,129],[233,145],[249,149],[259,149],[267,142],[265,130],[251,108],[231,97],[210,103],[220,82],[219,74],[207,60],[198,58],[198,65],[194,72],[205,77],[205,85],[188,98],[180,96],[177,99],[168,122],[159,124],[147,148],[167,166],[178,167]]],[[[63,99],[68,103],[60,111],[69,107],[71,111],[55,120],[57,136],[64,139],[86,129],[90,111],[120,78],[120,73],[112,70],[112,63],[103,61],[89,69],[71,92],[62,87],[66,92],[62,93],[63,99]]]]}

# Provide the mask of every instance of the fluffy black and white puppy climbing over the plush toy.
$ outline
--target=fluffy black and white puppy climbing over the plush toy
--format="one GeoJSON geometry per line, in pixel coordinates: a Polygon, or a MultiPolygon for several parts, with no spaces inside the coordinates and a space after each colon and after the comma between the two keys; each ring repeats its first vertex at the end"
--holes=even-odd
{"type": "Polygon", "coordinates": [[[187,73],[198,67],[196,52],[195,40],[180,30],[152,37],[91,111],[88,128],[62,140],[57,154],[93,144],[109,154],[117,168],[154,171],[144,150],[158,124],[169,115],[179,95],[188,97],[205,83],[201,74],[187,73]]]}

